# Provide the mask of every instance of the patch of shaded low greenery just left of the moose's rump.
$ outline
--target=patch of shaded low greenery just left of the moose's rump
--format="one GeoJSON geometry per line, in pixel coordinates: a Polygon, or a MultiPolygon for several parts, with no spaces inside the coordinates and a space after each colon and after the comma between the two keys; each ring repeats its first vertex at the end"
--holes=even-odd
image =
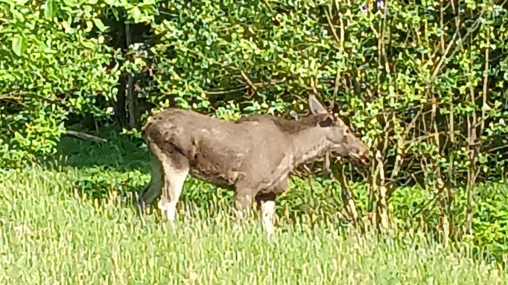
{"type": "Polygon", "coordinates": [[[122,134],[112,127],[86,133],[108,141],[63,136],[52,159],[58,161],[59,170],[72,176],[74,188],[89,197],[104,199],[114,191],[128,196],[147,185],[150,158],[143,138],[122,134]]]}

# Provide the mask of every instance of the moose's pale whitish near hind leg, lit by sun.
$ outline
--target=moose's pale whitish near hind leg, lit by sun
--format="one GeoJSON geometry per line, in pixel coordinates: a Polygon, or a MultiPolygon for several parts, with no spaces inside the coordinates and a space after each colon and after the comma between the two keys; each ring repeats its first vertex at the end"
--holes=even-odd
{"type": "Polygon", "coordinates": [[[168,220],[174,222],[176,216],[176,204],[182,192],[183,183],[189,172],[189,163],[182,154],[173,152],[166,154],[160,152],[163,172],[164,186],[158,208],[166,212],[168,220]]]}

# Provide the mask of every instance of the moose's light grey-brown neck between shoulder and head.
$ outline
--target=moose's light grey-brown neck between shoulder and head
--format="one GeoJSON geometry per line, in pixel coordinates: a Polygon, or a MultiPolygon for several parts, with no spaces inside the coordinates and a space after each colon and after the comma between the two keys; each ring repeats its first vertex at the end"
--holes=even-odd
{"type": "Polygon", "coordinates": [[[326,130],[312,127],[293,134],[293,153],[295,165],[315,160],[331,148],[326,130]]]}

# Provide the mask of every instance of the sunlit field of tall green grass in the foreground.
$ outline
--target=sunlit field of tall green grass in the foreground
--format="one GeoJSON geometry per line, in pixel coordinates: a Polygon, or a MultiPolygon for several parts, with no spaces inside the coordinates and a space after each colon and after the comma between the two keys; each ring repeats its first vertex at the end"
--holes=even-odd
{"type": "Polygon", "coordinates": [[[505,264],[419,233],[376,239],[325,219],[281,223],[269,241],[255,218],[235,229],[221,200],[181,203],[174,229],[157,212],[142,222],[116,192],[92,198],[59,170],[0,177],[0,283],[508,283],[505,264]]]}

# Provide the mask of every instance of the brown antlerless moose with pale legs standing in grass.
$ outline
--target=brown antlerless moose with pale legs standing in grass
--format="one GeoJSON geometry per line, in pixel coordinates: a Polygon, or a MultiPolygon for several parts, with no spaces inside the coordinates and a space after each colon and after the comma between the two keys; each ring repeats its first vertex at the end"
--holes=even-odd
{"type": "Polygon", "coordinates": [[[142,132],[151,153],[151,179],[137,200],[142,212],[156,198],[173,223],[188,174],[235,191],[234,208],[248,211],[256,200],[262,224],[274,231],[275,199],[299,165],[326,154],[369,163],[368,148],[314,95],[311,114],[293,121],[258,115],[226,121],[170,108],[149,118],[142,132]]]}

